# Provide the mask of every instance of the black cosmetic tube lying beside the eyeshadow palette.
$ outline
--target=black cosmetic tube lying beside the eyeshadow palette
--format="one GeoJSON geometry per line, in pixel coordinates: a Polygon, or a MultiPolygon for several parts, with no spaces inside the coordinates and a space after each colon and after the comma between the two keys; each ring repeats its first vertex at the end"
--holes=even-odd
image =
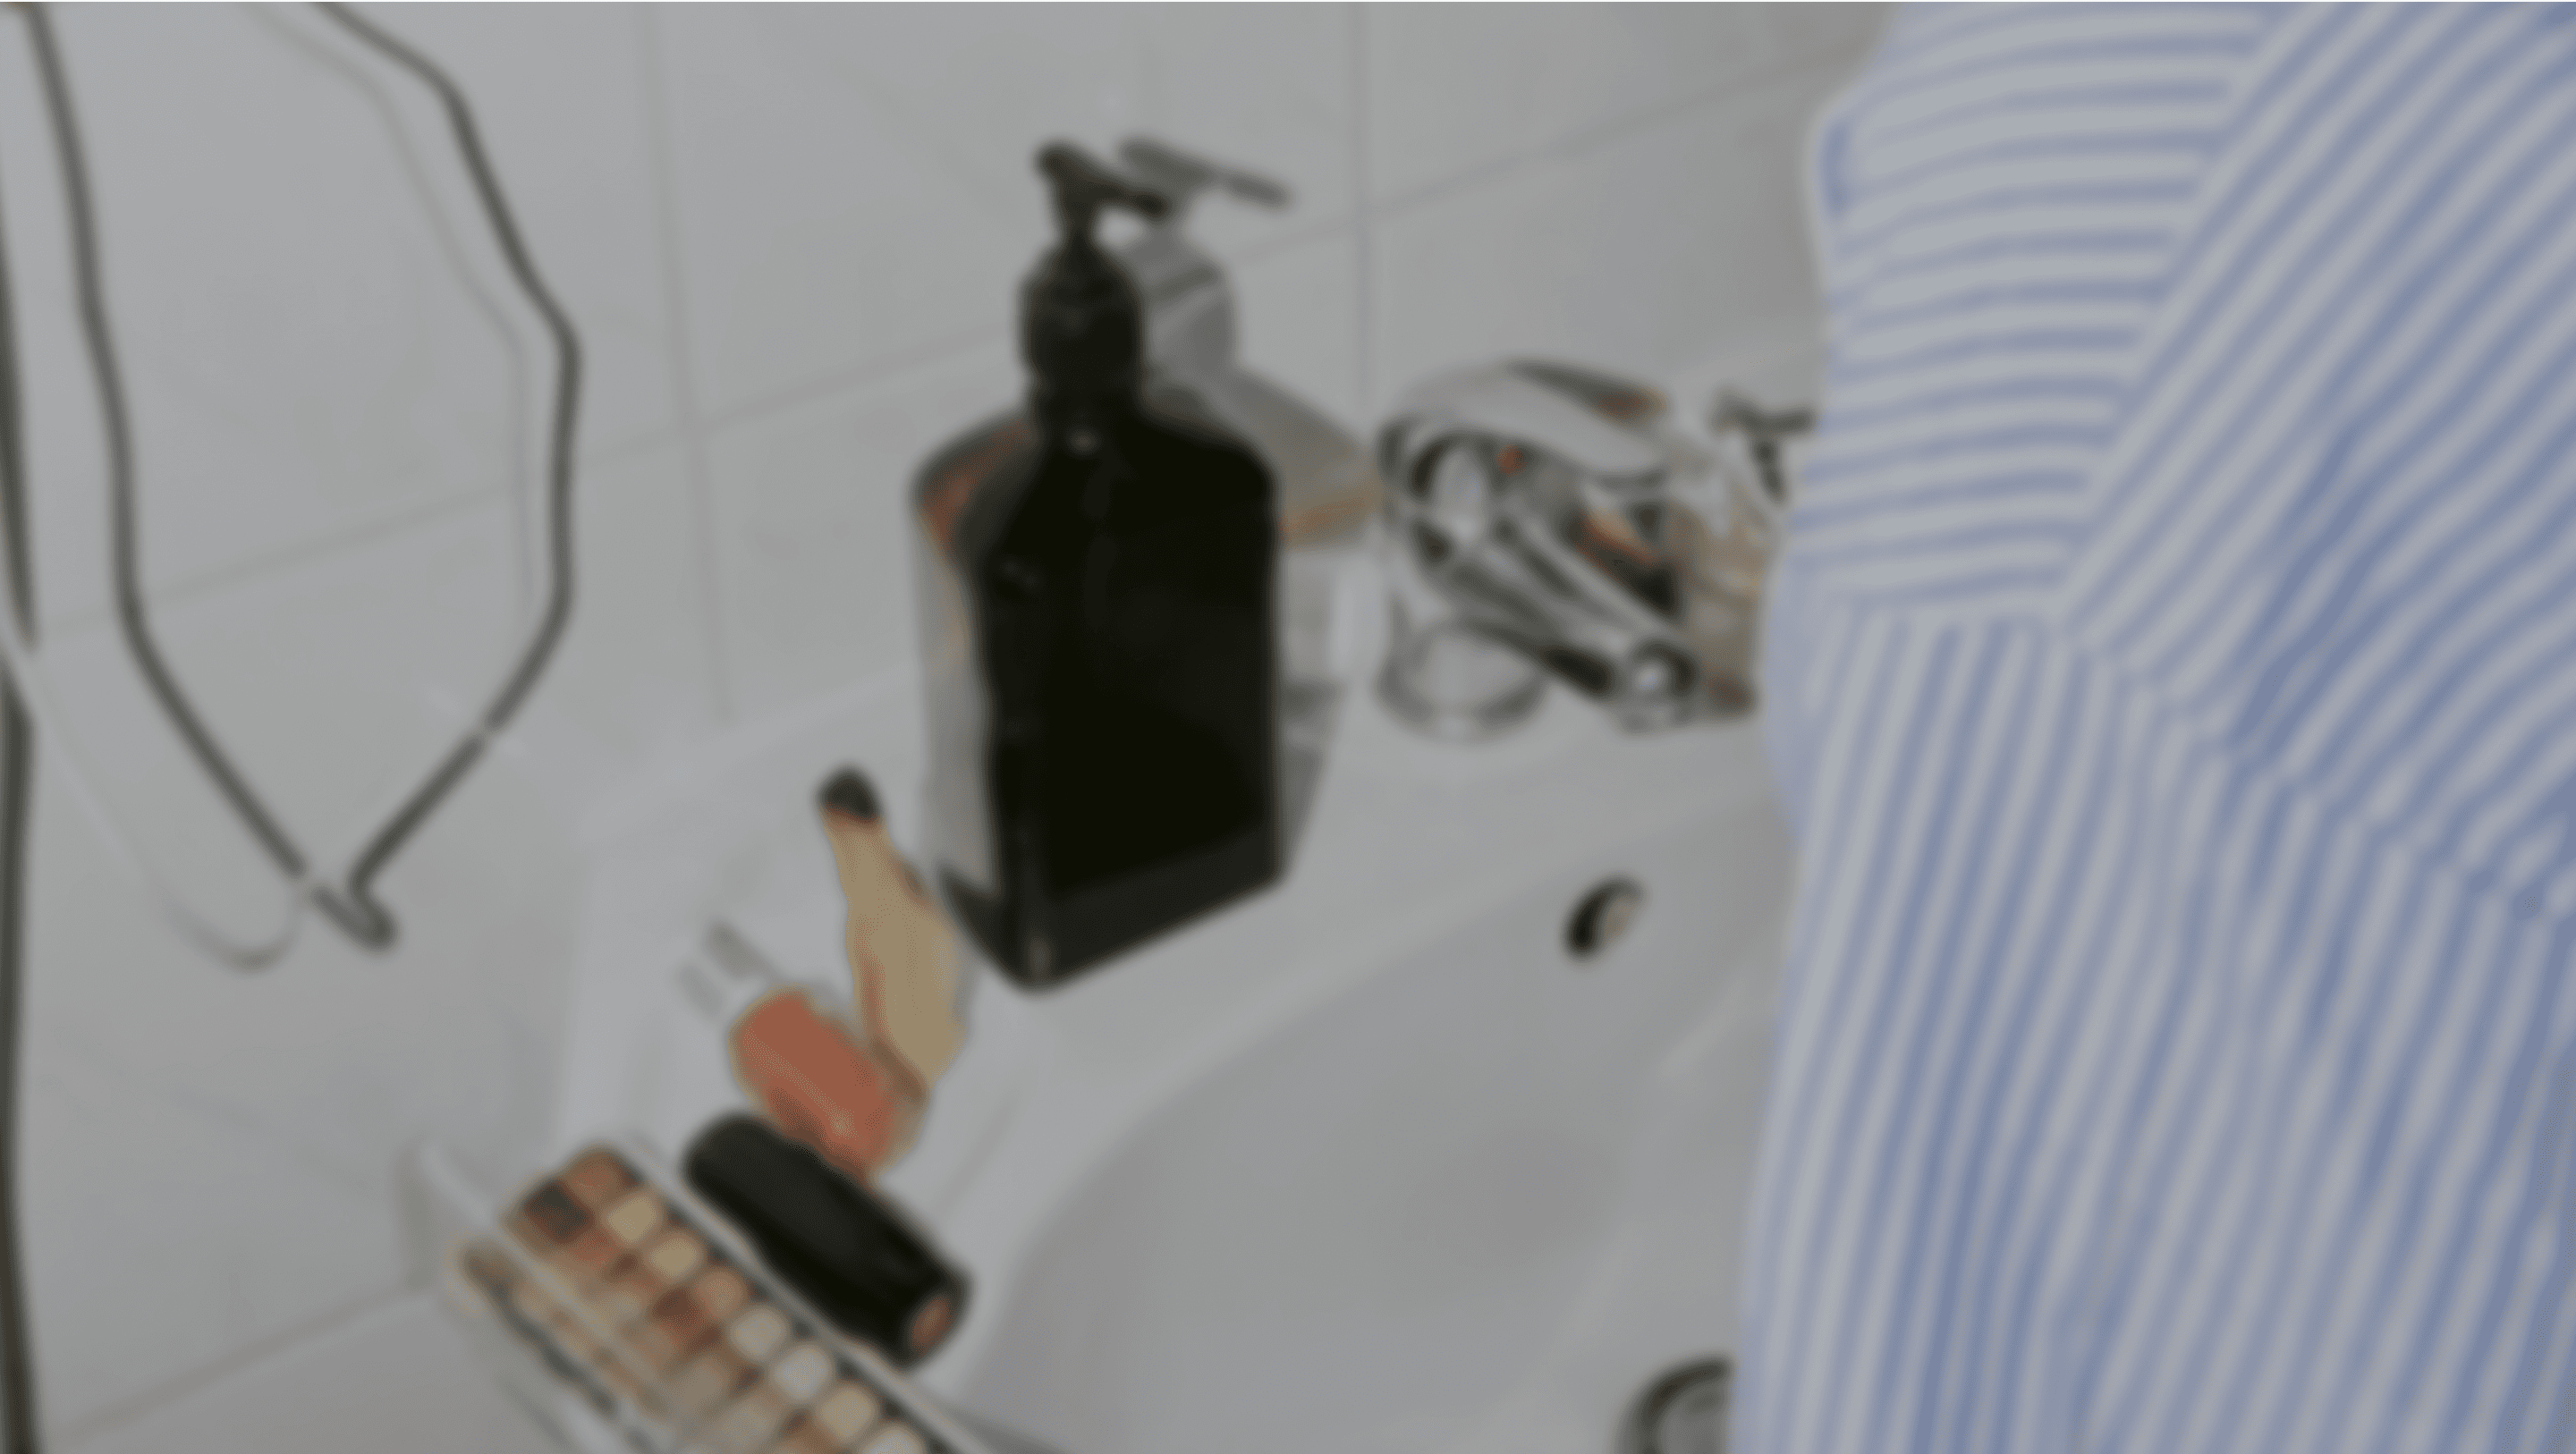
{"type": "Polygon", "coordinates": [[[688,1184],[835,1328],[914,1364],[966,1312],[966,1274],[891,1202],[755,1117],[688,1145],[688,1184]]]}

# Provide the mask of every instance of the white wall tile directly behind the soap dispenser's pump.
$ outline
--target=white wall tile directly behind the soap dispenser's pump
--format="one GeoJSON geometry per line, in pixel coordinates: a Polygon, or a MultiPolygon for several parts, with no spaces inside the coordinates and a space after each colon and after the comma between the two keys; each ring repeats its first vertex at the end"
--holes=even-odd
{"type": "Polygon", "coordinates": [[[657,21],[690,329],[719,414],[999,337],[1043,239],[1030,152],[1048,136],[1188,136],[1257,157],[1303,198],[1211,216],[1211,242],[1347,214],[1350,21],[1334,8],[716,3],[657,21]]]}

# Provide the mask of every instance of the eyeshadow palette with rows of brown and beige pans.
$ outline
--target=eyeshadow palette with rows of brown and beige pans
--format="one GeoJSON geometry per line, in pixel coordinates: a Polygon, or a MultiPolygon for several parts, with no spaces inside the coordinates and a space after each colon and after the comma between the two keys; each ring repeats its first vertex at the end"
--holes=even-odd
{"type": "Polygon", "coordinates": [[[487,1330],[507,1333],[487,1343],[518,1364],[513,1385],[526,1397],[556,1405],[541,1413],[567,1444],[984,1454],[873,1348],[842,1341],[781,1287],[639,1148],[577,1153],[446,1246],[451,1294],[487,1330]]]}

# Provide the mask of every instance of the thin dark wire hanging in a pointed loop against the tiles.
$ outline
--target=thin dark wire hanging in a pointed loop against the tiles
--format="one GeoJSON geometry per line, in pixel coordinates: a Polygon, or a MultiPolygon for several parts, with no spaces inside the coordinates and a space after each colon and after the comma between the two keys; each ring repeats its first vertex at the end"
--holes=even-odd
{"type": "Polygon", "coordinates": [[[580,337],[572,329],[572,319],[538,275],[536,262],[528,257],[518,219],[513,216],[500,180],[492,172],[492,162],[474,121],[474,108],[466,103],[464,90],[435,62],[374,21],[348,10],[345,5],[322,5],[322,15],[340,23],[340,28],[361,44],[392,59],[438,98],[448,118],[448,131],[453,134],[456,149],[474,183],[474,196],[484,208],[484,219],[492,224],[492,234],[500,244],[502,260],[507,262],[510,278],[544,319],[546,335],[554,345],[554,422],[546,450],[549,587],[544,612],[538,615],[538,623],[531,630],[528,643],[520,649],[507,679],[484,705],[477,723],[363,842],[348,870],[340,875],[340,883],[322,880],[309,870],[307,854],[276,821],[252,790],[250,780],[240,772],[240,767],[234,767],[232,754],[224,751],[214,731],[196,713],[196,705],[178,682],[160,651],[157,636],[152,633],[152,618],[142,592],[142,520],[134,502],[134,435],[124,396],[124,376],[116,363],[113,327],[108,322],[98,216],[90,198],[90,172],[80,144],[80,124],[52,21],[41,8],[21,8],[21,15],[26,15],[36,39],[36,62],[44,80],[46,111],[54,124],[54,147],[62,160],[62,188],[72,224],[75,291],[108,445],[111,569],[116,576],[116,620],[126,651],[134,656],[134,664],[142,672],[144,685],[152,690],[155,703],[162,708],[162,715],[170,718],[170,726],[188,744],[198,767],[209,780],[214,780],[216,790],[232,805],[232,813],[242,821],[278,872],[304,896],[307,903],[319,908],[350,939],[371,950],[389,947],[397,929],[394,916],[374,898],[376,875],[384,872],[397,852],[402,852],[410,836],[428,821],[438,803],[446,800],[456,782],[471,772],[471,767],[482,759],[484,746],[510,726],[520,703],[526,703],[536,679],[544,674],[546,661],[554,656],[554,649],[564,636],[564,625],[572,620],[572,450],[582,389],[580,337]]]}

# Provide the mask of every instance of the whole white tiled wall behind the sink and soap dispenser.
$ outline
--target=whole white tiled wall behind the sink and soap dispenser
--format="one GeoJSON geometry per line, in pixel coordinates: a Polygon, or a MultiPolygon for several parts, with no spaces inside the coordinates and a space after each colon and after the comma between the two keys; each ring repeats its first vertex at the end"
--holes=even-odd
{"type": "MultiPolygon", "coordinates": [[[[381,957],[309,926],[265,975],[214,968],[75,811],[64,744],[41,746],[23,1186],[44,1415],[72,1446],[144,1446],[234,1369],[265,1390],[299,1341],[386,1307],[407,1140],[507,1155],[536,1135],[580,821],[603,787],[904,669],[902,492],[1018,391],[1010,299],[1046,226],[1036,142],[1151,131],[1285,180],[1293,208],[1208,201],[1193,226],[1231,268],[1247,358],[1365,430],[1404,383],[1494,353],[1672,376],[1811,319],[1798,142],[1880,21],[371,13],[469,90],[582,329],[580,607],[520,731],[384,878],[404,939],[381,957]]],[[[541,335],[425,95],[314,15],[113,5],[57,26],[98,170],[162,636],[294,831],[340,847],[526,625],[541,335]]],[[[250,926],[273,883],[106,618],[95,399],[15,18],[0,75],[67,731],[183,890],[250,926]]]]}

